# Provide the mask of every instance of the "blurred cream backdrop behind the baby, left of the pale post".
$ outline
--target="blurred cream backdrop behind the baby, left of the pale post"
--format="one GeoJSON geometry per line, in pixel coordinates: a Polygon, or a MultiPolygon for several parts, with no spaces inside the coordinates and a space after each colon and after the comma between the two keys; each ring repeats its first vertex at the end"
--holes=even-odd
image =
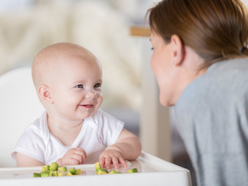
{"type": "Polygon", "coordinates": [[[30,66],[35,55],[50,44],[82,45],[103,66],[102,108],[135,122],[133,130],[139,135],[142,42],[130,36],[129,28],[145,24],[145,13],[155,2],[0,0],[0,75],[30,66]]]}

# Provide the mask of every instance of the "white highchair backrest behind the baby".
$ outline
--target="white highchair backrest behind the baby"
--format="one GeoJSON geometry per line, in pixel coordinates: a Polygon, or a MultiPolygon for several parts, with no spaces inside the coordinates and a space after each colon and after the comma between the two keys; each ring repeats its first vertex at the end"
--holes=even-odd
{"type": "Polygon", "coordinates": [[[44,110],[33,85],[31,67],[0,76],[0,168],[16,166],[11,152],[25,127],[44,110]]]}

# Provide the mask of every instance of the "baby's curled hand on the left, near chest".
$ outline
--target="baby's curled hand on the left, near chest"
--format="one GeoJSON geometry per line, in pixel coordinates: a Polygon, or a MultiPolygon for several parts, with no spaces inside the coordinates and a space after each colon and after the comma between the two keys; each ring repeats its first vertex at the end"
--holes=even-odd
{"type": "Polygon", "coordinates": [[[78,165],[83,164],[87,158],[87,154],[82,148],[72,148],[68,150],[61,158],[62,165],[78,165]]]}

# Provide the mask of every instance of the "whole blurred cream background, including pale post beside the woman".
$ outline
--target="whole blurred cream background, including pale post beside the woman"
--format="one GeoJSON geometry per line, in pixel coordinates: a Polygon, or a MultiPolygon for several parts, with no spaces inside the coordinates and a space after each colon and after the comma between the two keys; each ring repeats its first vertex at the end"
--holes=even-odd
{"type": "MultiPolygon", "coordinates": [[[[159,104],[149,37],[130,34],[132,26],[148,27],[146,11],[158,1],[0,0],[0,75],[31,66],[35,55],[50,44],[82,45],[102,63],[102,109],[124,121],[145,151],[192,170],[173,108],[159,104]]],[[[247,1],[243,0],[246,5],[247,1]]]]}

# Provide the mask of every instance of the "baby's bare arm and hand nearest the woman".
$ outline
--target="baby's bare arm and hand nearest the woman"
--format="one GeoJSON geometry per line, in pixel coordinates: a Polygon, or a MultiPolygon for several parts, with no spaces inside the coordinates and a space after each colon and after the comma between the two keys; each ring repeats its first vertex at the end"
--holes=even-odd
{"type": "Polygon", "coordinates": [[[99,157],[102,167],[110,168],[113,163],[118,169],[118,163],[126,167],[125,160],[134,160],[141,153],[141,143],[139,138],[126,129],[123,129],[115,144],[108,146],[99,157]]]}

